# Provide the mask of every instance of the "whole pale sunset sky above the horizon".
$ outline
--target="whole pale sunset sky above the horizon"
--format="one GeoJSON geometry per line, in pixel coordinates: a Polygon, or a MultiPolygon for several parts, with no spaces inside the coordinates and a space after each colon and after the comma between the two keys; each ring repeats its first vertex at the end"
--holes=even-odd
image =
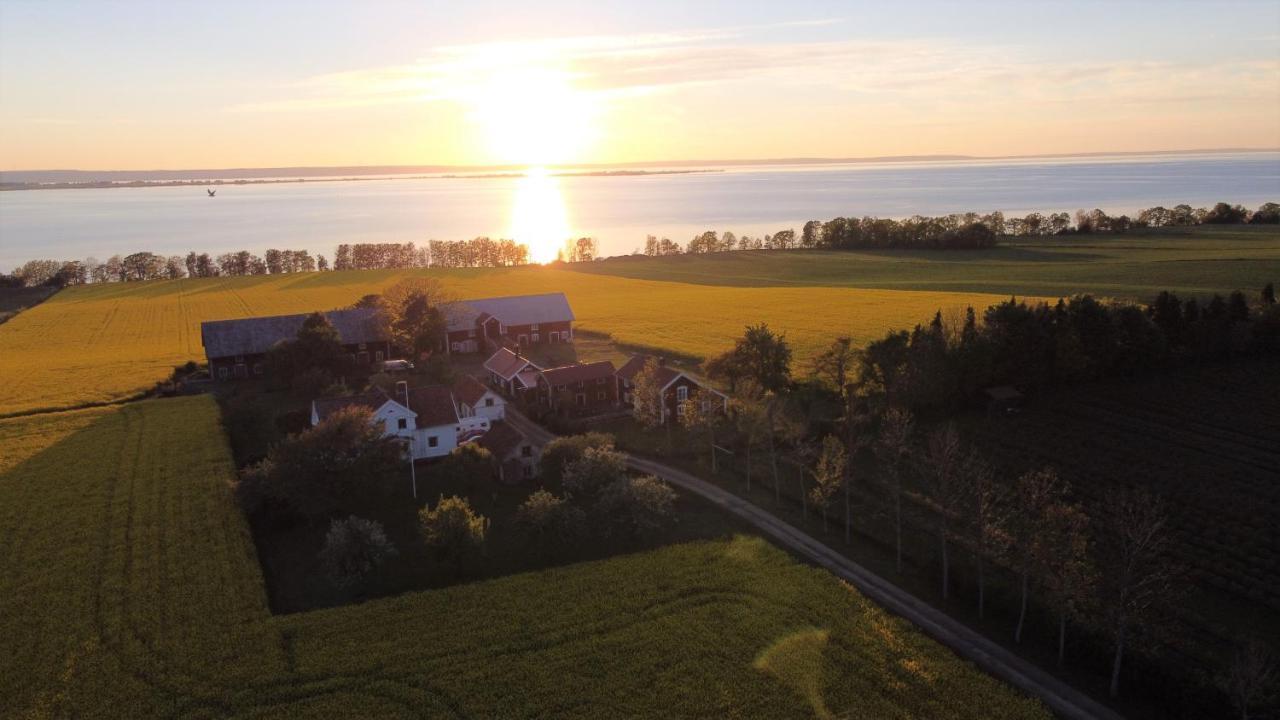
{"type": "Polygon", "coordinates": [[[0,0],[0,169],[1280,147],[1280,3],[0,0]]]}

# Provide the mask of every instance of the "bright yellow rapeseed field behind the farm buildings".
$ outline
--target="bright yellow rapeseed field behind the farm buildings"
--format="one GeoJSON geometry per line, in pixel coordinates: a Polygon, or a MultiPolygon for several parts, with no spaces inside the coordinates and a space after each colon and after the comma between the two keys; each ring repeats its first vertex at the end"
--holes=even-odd
{"type": "Polygon", "coordinates": [[[202,360],[200,323],[330,310],[407,274],[433,274],[460,299],[564,292],[579,328],[618,343],[707,357],[749,323],[786,332],[804,369],[826,342],[859,343],[934,310],[1001,300],[983,293],[832,287],[718,287],[557,268],[308,273],[113,283],[65,290],[0,325],[0,416],[113,402],[175,365],[202,360]]]}

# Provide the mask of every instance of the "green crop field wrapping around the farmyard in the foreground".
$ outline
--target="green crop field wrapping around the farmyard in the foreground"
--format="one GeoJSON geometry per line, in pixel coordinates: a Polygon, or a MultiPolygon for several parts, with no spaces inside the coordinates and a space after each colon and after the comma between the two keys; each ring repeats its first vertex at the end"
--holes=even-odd
{"type": "Polygon", "coordinates": [[[0,447],[3,717],[1048,717],[756,538],[273,618],[209,397],[0,447]]]}

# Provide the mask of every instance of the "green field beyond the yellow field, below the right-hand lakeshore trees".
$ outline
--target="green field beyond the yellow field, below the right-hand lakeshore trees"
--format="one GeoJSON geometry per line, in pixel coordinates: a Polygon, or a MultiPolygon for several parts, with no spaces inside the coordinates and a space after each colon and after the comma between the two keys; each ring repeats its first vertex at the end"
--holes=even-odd
{"type": "Polygon", "coordinates": [[[728,252],[616,259],[584,266],[639,279],[739,287],[851,287],[1148,301],[1280,282],[1280,228],[1212,227],[1120,236],[1010,238],[991,250],[728,252]]]}

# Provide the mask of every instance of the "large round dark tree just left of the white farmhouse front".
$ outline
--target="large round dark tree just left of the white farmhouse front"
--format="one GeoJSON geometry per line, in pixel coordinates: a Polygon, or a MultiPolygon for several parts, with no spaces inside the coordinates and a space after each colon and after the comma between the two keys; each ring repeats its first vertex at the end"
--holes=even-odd
{"type": "Polygon", "coordinates": [[[388,495],[404,465],[402,454],[401,442],[383,437],[367,409],[346,407],[271,446],[246,470],[241,491],[320,520],[388,495]]]}

